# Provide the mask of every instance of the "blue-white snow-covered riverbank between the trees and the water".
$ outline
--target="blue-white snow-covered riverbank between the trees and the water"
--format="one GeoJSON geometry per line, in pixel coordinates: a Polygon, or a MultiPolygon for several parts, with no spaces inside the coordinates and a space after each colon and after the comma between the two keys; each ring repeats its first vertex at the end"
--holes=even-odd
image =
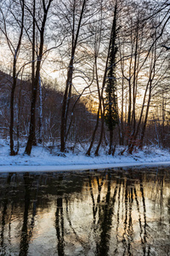
{"type": "Polygon", "coordinates": [[[19,154],[9,155],[9,145],[5,140],[0,140],[0,172],[40,172],[40,171],[71,171],[103,169],[121,166],[170,166],[170,151],[156,147],[144,148],[133,155],[120,155],[122,148],[116,148],[115,156],[100,151],[98,157],[88,157],[83,149],[73,153],[59,156],[59,151],[54,148],[37,146],[32,148],[31,156],[24,154],[25,143],[20,148],[19,154]]]}

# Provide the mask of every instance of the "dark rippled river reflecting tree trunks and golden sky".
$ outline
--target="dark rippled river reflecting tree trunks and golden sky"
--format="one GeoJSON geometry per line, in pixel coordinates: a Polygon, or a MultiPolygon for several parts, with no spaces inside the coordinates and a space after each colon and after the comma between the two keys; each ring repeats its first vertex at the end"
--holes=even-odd
{"type": "Polygon", "coordinates": [[[0,255],[170,255],[170,169],[0,174],[0,255]]]}

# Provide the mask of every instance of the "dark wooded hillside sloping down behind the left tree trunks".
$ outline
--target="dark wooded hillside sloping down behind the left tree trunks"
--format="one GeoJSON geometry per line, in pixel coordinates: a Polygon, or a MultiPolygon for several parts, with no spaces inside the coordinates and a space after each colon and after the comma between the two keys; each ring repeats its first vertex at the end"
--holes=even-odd
{"type": "MultiPolygon", "coordinates": [[[[8,137],[9,129],[9,108],[10,108],[10,88],[12,77],[0,71],[0,135],[8,137]]],[[[60,119],[63,94],[51,88],[50,84],[42,86],[42,125],[44,141],[59,140],[60,119]]],[[[71,99],[73,107],[77,96],[71,99]]],[[[39,125],[39,95],[37,96],[37,136],[39,125]]],[[[18,79],[14,97],[14,134],[19,128],[20,137],[27,137],[29,131],[31,108],[31,83],[18,79]],[[19,125],[18,125],[19,124],[19,125]],[[17,126],[18,125],[18,126],[17,126]]],[[[70,108],[70,109],[71,109],[70,108]]],[[[90,113],[82,102],[78,102],[73,115],[71,110],[68,113],[71,121],[69,140],[84,140],[91,137],[94,129],[95,114],[90,113]],[[72,120],[71,120],[72,119],[72,120]]]]}

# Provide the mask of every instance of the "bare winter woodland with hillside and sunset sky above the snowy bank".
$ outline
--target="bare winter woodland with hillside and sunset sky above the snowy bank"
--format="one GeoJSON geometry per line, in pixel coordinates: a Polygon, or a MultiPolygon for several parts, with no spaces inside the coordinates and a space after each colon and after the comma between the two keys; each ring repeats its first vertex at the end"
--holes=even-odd
{"type": "Polygon", "coordinates": [[[169,148],[170,1],[2,0],[0,136],[169,148]],[[53,74],[53,77],[50,76],[53,74]]]}

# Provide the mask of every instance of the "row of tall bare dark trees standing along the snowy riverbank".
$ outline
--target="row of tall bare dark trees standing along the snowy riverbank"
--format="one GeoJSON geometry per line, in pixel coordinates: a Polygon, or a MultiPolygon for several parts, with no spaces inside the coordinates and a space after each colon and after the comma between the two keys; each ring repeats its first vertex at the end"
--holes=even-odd
{"type": "MultiPolygon", "coordinates": [[[[8,3],[3,1],[0,5],[0,31],[6,38],[8,49],[13,56],[9,125],[10,154],[17,154],[19,150],[18,148],[14,150],[14,94],[17,79],[29,65],[31,65],[31,111],[25,153],[31,154],[32,145],[36,145],[37,141],[42,143],[41,69],[43,56],[49,52],[46,44],[49,37],[47,34],[50,34],[50,19],[54,19],[56,31],[59,31],[60,27],[56,36],[59,44],[55,44],[51,50],[58,49],[60,46],[60,54],[65,51],[64,55],[67,55],[69,63],[65,73],[65,88],[60,110],[60,151],[66,150],[66,141],[71,131],[72,116],[77,102],[85,90],[91,91],[91,88],[94,88],[92,87],[94,84],[96,84],[98,95],[98,110],[86,154],[91,154],[94,142],[96,145],[94,154],[99,154],[99,148],[105,139],[105,130],[108,130],[106,133],[109,136],[108,154],[114,155],[116,150],[114,132],[119,137],[119,143],[127,145],[129,154],[133,153],[136,146],[142,148],[152,107],[151,102],[154,106],[160,94],[163,102],[168,101],[167,75],[165,74],[169,64],[165,49],[168,50],[169,47],[166,45],[168,37],[165,31],[170,17],[167,2],[157,3],[149,9],[150,3],[144,2],[141,5],[131,1],[127,4],[126,1],[119,3],[117,0],[113,1],[110,7],[105,1],[94,3],[93,0],[71,0],[68,6],[65,5],[65,1],[61,1],[59,5],[54,0],[30,0],[28,3],[26,0],[8,1],[8,3]],[[8,13],[11,15],[11,20],[8,18],[8,13]],[[31,17],[29,26],[26,25],[28,14],[31,17]],[[161,18],[157,19],[157,15],[161,15],[161,18]],[[14,42],[7,30],[7,27],[11,27],[12,19],[17,26],[14,42]],[[31,45],[31,59],[21,65],[21,49],[26,36],[31,45]],[[66,44],[69,45],[67,50],[66,44]],[[103,52],[104,49],[105,52],[103,52]],[[165,60],[167,66],[164,66],[165,60]],[[82,70],[77,68],[79,62],[82,70]],[[86,86],[83,84],[82,93],[75,96],[74,84],[79,83],[78,80],[76,81],[77,77],[85,81],[86,86]],[[162,81],[166,85],[162,85],[162,81]],[[40,114],[37,137],[38,95],[40,114]],[[76,100],[71,109],[71,98],[74,96],[76,100]]],[[[54,34],[51,37],[54,38],[54,34]]],[[[50,42],[50,38],[48,41],[50,42]]],[[[64,62],[64,57],[62,61],[64,62]]],[[[165,113],[166,104],[162,104],[164,104],[162,109],[165,113]]],[[[165,114],[163,122],[164,118],[165,114]]]]}

